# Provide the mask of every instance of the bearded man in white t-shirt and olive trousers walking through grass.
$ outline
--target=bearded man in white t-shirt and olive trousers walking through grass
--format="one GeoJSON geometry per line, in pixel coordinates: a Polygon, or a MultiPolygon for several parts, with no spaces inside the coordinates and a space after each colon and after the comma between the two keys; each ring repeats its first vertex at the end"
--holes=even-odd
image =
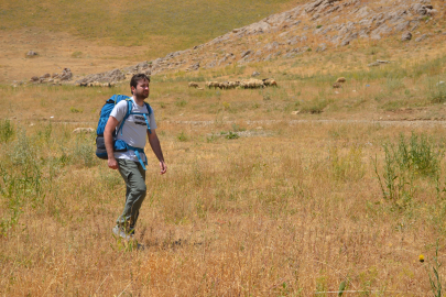
{"type": "Polygon", "coordinates": [[[108,154],[108,166],[118,169],[126,182],[126,206],[122,215],[117,220],[113,233],[126,240],[132,239],[134,227],[142,201],[145,198],[145,166],[144,154],[145,135],[149,138],[150,146],[160,161],[161,174],[165,174],[167,166],[164,163],[163,152],[156,136],[156,123],[152,108],[144,102],[150,94],[150,78],[144,74],[137,74],[130,80],[131,113],[124,120],[129,102],[126,100],[116,105],[110,113],[104,138],[108,154]],[[122,120],[124,120],[123,125],[122,120]],[[118,131],[120,130],[120,132],[118,131]],[[117,132],[116,140],[127,143],[126,152],[113,152],[113,131],[117,132]]]}

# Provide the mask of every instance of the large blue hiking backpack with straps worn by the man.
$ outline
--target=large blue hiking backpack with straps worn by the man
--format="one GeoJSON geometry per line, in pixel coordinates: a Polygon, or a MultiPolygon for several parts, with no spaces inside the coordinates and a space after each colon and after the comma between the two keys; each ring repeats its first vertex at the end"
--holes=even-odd
{"type": "MultiPolygon", "coordinates": [[[[98,128],[96,130],[96,135],[97,135],[96,136],[96,155],[99,158],[108,160],[107,150],[106,150],[106,142],[105,142],[105,139],[104,139],[104,130],[106,129],[108,118],[110,118],[110,113],[113,110],[115,106],[118,105],[122,100],[127,101],[127,113],[126,113],[124,118],[122,119],[121,124],[119,125],[118,133],[121,132],[121,135],[122,135],[122,127],[126,123],[126,121],[127,121],[127,119],[129,118],[130,114],[141,114],[141,116],[143,116],[144,119],[145,119],[145,123],[148,125],[149,133],[152,133],[150,131],[150,125],[149,125],[149,116],[150,116],[150,110],[151,110],[149,103],[144,102],[145,107],[148,109],[148,113],[132,112],[133,103],[132,103],[132,99],[130,97],[124,96],[124,95],[113,95],[110,99],[108,99],[106,101],[102,109],[100,110],[98,128]]],[[[141,158],[141,155],[140,155],[140,154],[144,154],[144,147],[130,146],[124,141],[117,140],[116,139],[116,136],[117,136],[116,131],[113,131],[112,136],[113,136],[113,150],[115,150],[115,152],[134,151],[134,154],[137,155],[139,162],[141,163],[142,167],[145,170],[144,164],[146,165],[146,162],[142,162],[142,158],[141,158]]]]}

